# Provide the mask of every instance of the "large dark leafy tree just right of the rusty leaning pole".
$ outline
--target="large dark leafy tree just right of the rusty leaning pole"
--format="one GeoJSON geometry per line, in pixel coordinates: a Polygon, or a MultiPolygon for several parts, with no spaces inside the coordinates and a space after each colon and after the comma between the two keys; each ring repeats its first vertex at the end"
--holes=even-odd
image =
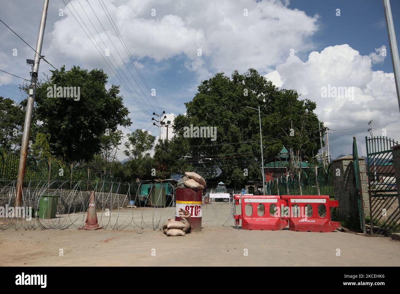
{"type": "Polygon", "coordinates": [[[103,70],[73,66],[66,71],[63,66],[38,86],[35,100],[37,119],[42,122],[40,132],[51,134],[50,148],[56,156],[65,155],[70,162],[91,160],[100,152],[100,137],[106,130],[115,132],[119,125],[130,126],[119,86],[111,85],[107,90],[107,79],[103,70]],[[54,86],[80,87],[80,96],[54,92],[54,86]]]}

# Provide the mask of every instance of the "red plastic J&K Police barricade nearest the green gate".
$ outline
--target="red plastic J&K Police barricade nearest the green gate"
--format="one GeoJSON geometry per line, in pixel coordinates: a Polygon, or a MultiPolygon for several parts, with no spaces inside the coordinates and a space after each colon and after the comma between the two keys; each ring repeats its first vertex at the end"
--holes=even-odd
{"type": "Polygon", "coordinates": [[[339,222],[330,220],[330,208],[338,207],[338,200],[329,200],[322,195],[282,195],[289,209],[283,212],[283,219],[289,220],[289,230],[299,232],[332,232],[339,222]],[[306,212],[307,208],[307,212],[306,212]]]}

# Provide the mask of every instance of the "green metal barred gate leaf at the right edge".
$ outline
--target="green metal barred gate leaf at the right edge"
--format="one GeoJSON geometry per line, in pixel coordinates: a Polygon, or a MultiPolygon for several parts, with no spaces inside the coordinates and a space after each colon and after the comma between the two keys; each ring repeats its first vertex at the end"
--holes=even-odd
{"type": "Polygon", "coordinates": [[[365,137],[367,148],[368,194],[371,235],[389,234],[400,230],[399,198],[390,138],[365,137]]]}

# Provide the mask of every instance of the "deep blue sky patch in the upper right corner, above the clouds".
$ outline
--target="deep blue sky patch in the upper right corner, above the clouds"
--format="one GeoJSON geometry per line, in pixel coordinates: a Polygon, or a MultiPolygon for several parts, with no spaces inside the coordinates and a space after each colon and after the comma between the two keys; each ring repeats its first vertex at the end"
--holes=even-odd
{"type": "MultiPolygon", "coordinates": [[[[400,38],[400,1],[391,1],[396,38],[400,38]]],[[[313,1],[293,0],[290,8],[303,10],[308,15],[321,17],[320,30],[313,36],[315,50],[321,51],[327,46],[349,44],[362,55],[368,55],[374,48],[386,45],[388,57],[383,64],[374,65],[374,70],[393,72],[392,58],[385,14],[381,0],[335,0],[313,1]],[[340,17],[336,9],[340,9],[340,17]],[[378,46],[379,45],[379,46],[378,46]]]]}

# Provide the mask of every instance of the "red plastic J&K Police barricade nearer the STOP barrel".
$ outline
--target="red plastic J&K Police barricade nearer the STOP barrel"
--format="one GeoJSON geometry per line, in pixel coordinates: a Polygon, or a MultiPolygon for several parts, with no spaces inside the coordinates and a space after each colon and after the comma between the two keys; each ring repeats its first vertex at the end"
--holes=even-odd
{"type": "Polygon", "coordinates": [[[236,225],[242,220],[242,230],[282,230],[288,225],[287,220],[282,220],[280,207],[286,206],[286,201],[277,195],[235,195],[236,205],[241,204],[242,214],[235,214],[236,225]],[[239,200],[241,203],[239,203],[239,200]],[[246,215],[245,207],[250,204],[252,212],[246,215]],[[260,205],[260,209],[257,209],[260,205]],[[275,209],[277,207],[278,209],[275,209]],[[261,215],[260,215],[261,214],[261,215]]]}

